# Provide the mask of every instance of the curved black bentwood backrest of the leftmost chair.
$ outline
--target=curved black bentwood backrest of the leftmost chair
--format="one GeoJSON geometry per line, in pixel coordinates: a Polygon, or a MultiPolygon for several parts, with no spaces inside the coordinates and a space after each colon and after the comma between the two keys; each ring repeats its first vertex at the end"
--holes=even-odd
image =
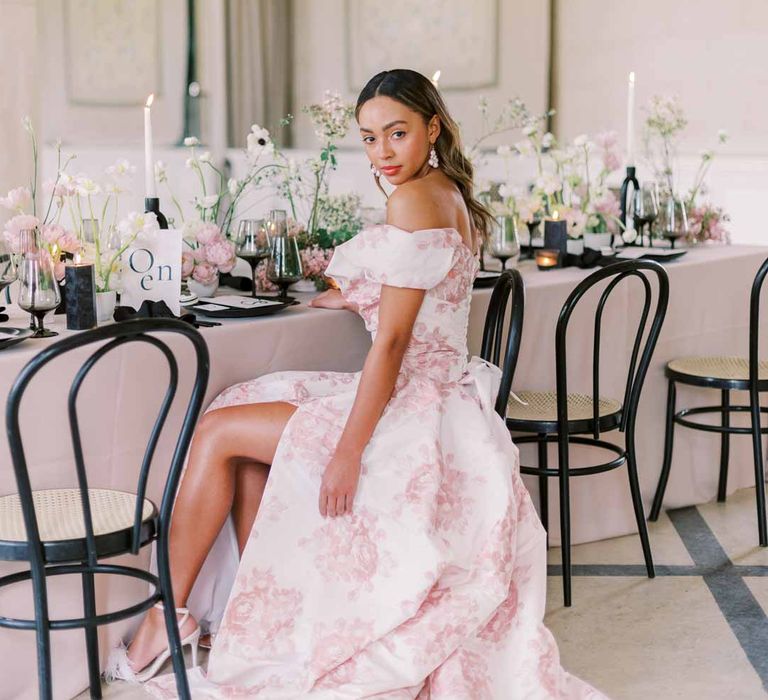
{"type": "Polygon", "coordinates": [[[122,347],[128,343],[140,342],[157,348],[165,357],[169,370],[169,381],[165,391],[165,396],[160,405],[160,411],[152,427],[152,431],[147,442],[141,468],[139,470],[136,509],[132,532],[132,551],[137,553],[141,545],[141,525],[144,496],[147,487],[147,478],[152,463],[152,457],[155,453],[158,440],[161,436],[163,426],[168,412],[171,408],[176,389],[178,385],[178,365],[173,353],[166,343],[156,338],[154,335],[158,332],[177,333],[186,337],[193,345],[196,357],[195,381],[187,404],[184,422],[181,432],[176,440],[176,446],[171,458],[170,469],[165,482],[163,498],[160,505],[160,529],[167,536],[167,528],[170,521],[173,500],[176,495],[181,468],[186,457],[187,449],[192,438],[192,431],[195,427],[197,417],[202,407],[205,397],[206,387],[208,385],[209,359],[208,348],[203,337],[188,323],[176,319],[136,319],[115,323],[92,331],[85,331],[77,335],[72,335],[63,340],[50,345],[45,350],[32,358],[21,370],[16,381],[8,394],[8,403],[5,411],[6,430],[8,432],[8,442],[11,448],[11,460],[16,476],[16,483],[19,489],[19,498],[21,500],[22,515],[24,525],[27,530],[27,543],[29,548],[29,557],[33,564],[43,564],[44,555],[40,542],[40,531],[38,528],[37,517],[32,501],[32,487],[29,479],[26,457],[24,455],[24,446],[21,440],[21,431],[19,429],[19,406],[21,404],[24,391],[28,387],[32,378],[47,364],[61,357],[70,350],[81,348],[86,345],[100,344],[83,363],[78,370],[70,386],[67,399],[67,410],[69,416],[69,427],[72,438],[72,447],[75,457],[75,470],[77,472],[77,485],[80,491],[80,499],[83,508],[83,521],[85,526],[86,551],[88,563],[96,565],[96,543],[93,532],[93,518],[91,515],[90,500],[88,498],[88,477],[86,474],[85,463],[83,459],[82,441],[80,438],[80,424],[77,416],[77,396],[83,381],[88,376],[93,366],[105,355],[115,348],[122,347]],[[107,342],[104,342],[107,341],[107,342]]]}

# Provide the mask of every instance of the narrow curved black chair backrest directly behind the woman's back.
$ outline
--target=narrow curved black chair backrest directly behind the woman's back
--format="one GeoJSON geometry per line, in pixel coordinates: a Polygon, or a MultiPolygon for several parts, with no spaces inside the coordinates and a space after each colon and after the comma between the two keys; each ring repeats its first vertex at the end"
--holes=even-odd
{"type": "Polygon", "coordinates": [[[507,401],[512,389],[512,379],[517,366],[517,356],[520,353],[520,340],[523,335],[523,311],[525,309],[525,284],[517,270],[505,270],[493,287],[491,301],[485,316],[483,328],[483,344],[480,356],[502,368],[501,385],[496,397],[496,412],[505,418],[507,401]],[[504,364],[501,360],[501,342],[504,335],[504,315],[507,302],[512,296],[512,306],[509,311],[509,331],[507,348],[504,353],[504,364]]]}

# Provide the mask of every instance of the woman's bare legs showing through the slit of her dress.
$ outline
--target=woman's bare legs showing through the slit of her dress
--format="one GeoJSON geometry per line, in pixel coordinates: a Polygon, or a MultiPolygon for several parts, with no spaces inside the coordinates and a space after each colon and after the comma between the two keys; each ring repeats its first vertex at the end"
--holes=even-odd
{"type": "MultiPolygon", "coordinates": [[[[242,552],[250,532],[250,527],[246,532],[246,522],[250,518],[250,524],[253,523],[258,505],[240,504],[245,497],[236,500],[238,482],[251,497],[258,496],[261,501],[266,465],[272,464],[280,436],[295,410],[293,404],[276,401],[220,408],[201,419],[171,520],[171,578],[177,607],[186,605],[192,584],[235,503],[242,552]],[[243,465],[243,460],[251,464],[243,465]],[[263,468],[261,472],[252,466],[253,462],[263,468]],[[241,465],[247,471],[238,479],[241,465]],[[241,533],[245,533],[242,541],[241,533]]],[[[182,639],[194,630],[195,624],[190,618],[181,629],[182,639]]],[[[128,650],[131,666],[141,670],[166,644],[162,613],[152,609],[128,650]]]]}

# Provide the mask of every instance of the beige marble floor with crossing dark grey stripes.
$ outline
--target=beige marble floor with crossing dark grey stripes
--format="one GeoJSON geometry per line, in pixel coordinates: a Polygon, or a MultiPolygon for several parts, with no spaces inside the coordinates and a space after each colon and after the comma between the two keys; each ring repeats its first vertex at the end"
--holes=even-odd
{"type": "MultiPolygon", "coordinates": [[[[650,523],[653,580],[637,536],[574,547],[570,608],[550,550],[546,623],[563,665],[615,700],[768,697],[768,548],[754,499],[745,489],[650,523]]],[[[115,684],[105,697],[147,696],[115,684]]]]}

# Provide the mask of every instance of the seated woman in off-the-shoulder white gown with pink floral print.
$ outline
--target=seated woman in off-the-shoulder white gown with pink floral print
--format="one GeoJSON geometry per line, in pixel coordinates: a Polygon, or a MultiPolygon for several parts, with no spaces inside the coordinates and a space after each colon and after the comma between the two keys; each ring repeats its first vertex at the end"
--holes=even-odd
{"type": "MultiPolygon", "coordinates": [[[[230,511],[241,563],[193,696],[601,697],[542,624],[545,535],[493,410],[500,372],[466,361],[490,217],[458,128],[410,70],[372,78],[356,117],[396,189],[312,306],[359,313],[373,345],[362,372],[270,374],[201,420],[171,528],[177,604],[230,511]]],[[[188,614],[180,629],[196,642],[188,614]]],[[[154,673],[165,644],[150,611],[123,675],[154,673]]],[[[149,688],[172,697],[173,678],[149,688]]]]}

